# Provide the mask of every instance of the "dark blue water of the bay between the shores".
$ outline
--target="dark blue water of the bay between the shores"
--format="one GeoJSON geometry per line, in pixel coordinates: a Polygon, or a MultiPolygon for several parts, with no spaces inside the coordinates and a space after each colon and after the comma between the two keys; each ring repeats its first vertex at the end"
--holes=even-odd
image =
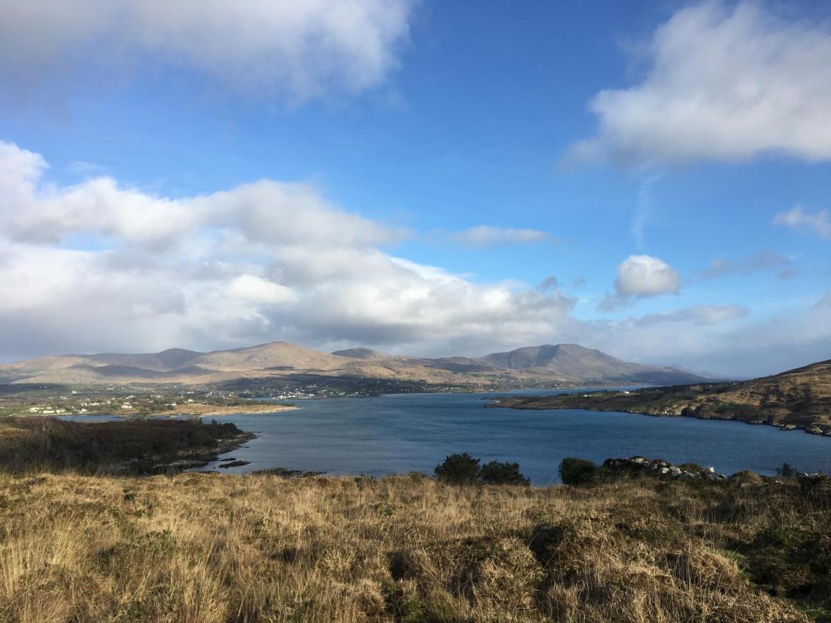
{"type": "MultiPolygon", "coordinates": [[[[249,465],[219,471],[283,467],[374,476],[432,473],[447,454],[467,452],[483,462],[515,461],[538,485],[557,482],[558,464],[568,456],[601,462],[641,454],[712,465],[726,474],[742,469],[773,474],[785,461],[802,471],[831,472],[831,439],[799,430],[601,411],[485,409],[485,397],[494,394],[298,400],[297,410],[218,417],[258,434],[220,457],[249,465]]],[[[210,464],[202,469],[215,468],[210,464]]]]}

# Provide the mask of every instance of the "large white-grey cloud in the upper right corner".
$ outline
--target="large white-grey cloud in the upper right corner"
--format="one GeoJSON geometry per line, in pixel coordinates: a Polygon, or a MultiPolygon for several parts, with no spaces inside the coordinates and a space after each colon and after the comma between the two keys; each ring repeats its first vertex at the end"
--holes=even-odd
{"type": "Polygon", "coordinates": [[[676,12],[642,50],[643,80],[593,97],[597,135],[569,158],[831,159],[826,24],[785,21],[760,2],[701,2],[676,12]]]}

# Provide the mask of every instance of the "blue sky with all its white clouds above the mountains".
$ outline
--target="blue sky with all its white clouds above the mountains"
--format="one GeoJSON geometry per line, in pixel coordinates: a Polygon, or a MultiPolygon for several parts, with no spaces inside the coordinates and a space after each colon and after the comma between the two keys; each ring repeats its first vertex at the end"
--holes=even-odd
{"type": "Polygon", "coordinates": [[[831,357],[829,187],[825,2],[0,0],[0,361],[772,374],[831,357]]]}

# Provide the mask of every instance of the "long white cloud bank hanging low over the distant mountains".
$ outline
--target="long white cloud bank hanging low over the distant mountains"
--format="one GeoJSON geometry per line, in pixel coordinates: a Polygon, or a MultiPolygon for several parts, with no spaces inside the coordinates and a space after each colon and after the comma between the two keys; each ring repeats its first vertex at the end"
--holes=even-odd
{"type": "Polygon", "coordinates": [[[549,341],[572,322],[561,292],[396,258],[384,248],[406,232],[307,184],[171,199],[106,177],[47,184],[46,168],[0,143],[6,358],[275,339],[453,351],[549,341]]]}

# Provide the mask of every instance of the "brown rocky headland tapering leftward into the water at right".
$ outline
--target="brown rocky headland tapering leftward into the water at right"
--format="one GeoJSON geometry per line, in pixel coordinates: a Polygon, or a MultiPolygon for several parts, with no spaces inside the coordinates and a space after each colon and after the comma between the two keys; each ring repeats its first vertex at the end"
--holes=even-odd
{"type": "Polygon", "coordinates": [[[652,387],[588,395],[521,396],[490,406],[514,409],[593,409],[647,415],[690,415],[793,426],[831,434],[831,361],[742,383],[652,387]]]}

